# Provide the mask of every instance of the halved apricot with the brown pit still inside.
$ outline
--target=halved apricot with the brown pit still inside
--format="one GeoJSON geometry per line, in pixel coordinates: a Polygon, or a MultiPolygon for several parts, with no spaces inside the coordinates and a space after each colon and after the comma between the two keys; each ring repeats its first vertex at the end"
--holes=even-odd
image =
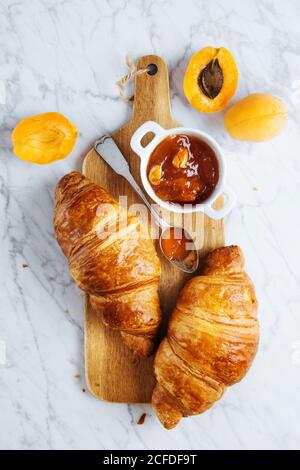
{"type": "Polygon", "coordinates": [[[183,81],[186,98],[199,111],[211,113],[225,108],[238,83],[238,69],[225,47],[205,47],[194,54],[183,81]]]}

